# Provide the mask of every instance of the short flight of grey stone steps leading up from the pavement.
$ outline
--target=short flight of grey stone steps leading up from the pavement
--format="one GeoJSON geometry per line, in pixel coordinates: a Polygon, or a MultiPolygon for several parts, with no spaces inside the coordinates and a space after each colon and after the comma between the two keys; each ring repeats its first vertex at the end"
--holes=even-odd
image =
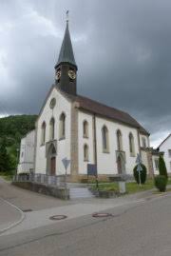
{"type": "Polygon", "coordinates": [[[69,195],[70,199],[94,197],[87,187],[69,187],[69,195]]]}

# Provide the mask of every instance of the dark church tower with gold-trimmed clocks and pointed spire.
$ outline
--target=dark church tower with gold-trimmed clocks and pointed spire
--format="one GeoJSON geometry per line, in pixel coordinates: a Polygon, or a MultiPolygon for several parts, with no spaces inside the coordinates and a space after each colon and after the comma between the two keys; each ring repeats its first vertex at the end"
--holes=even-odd
{"type": "Polygon", "coordinates": [[[66,93],[77,94],[77,65],[68,30],[68,18],[66,19],[66,32],[63,44],[58,62],[55,65],[55,84],[66,93]]]}

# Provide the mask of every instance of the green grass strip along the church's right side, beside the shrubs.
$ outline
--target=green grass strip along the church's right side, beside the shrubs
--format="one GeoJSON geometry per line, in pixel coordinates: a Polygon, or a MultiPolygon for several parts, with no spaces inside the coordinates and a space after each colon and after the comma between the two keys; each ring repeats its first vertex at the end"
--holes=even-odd
{"type": "MultiPolygon", "coordinates": [[[[168,180],[167,185],[171,185],[171,179],[168,180]]],[[[93,189],[96,189],[95,185],[92,185],[93,189]]],[[[136,182],[130,182],[126,183],[126,191],[127,193],[137,193],[145,190],[149,190],[155,188],[154,186],[154,180],[148,179],[144,185],[140,186],[136,182]]],[[[99,184],[99,190],[105,190],[105,191],[116,191],[119,190],[118,183],[107,183],[107,184],[99,184]]]]}

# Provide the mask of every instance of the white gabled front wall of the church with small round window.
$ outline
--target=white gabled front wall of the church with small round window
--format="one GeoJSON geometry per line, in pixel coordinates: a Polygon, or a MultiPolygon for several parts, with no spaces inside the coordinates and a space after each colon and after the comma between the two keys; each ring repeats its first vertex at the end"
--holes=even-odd
{"type": "MultiPolygon", "coordinates": [[[[62,159],[67,157],[70,159],[70,112],[71,104],[64,96],[57,90],[52,89],[48,96],[46,106],[44,107],[37,123],[37,145],[36,145],[36,163],[35,172],[47,173],[47,158],[46,158],[46,144],[41,146],[41,131],[42,124],[46,122],[46,143],[49,142],[49,122],[53,116],[55,119],[54,140],[57,140],[57,156],[56,156],[56,175],[64,174],[65,168],[62,164],[62,159]],[[56,99],[56,105],[53,109],[49,108],[52,98],[56,99]],[[59,140],[59,119],[62,112],[66,114],[66,139],[59,140]]],[[[67,169],[70,173],[70,167],[67,169]]]]}

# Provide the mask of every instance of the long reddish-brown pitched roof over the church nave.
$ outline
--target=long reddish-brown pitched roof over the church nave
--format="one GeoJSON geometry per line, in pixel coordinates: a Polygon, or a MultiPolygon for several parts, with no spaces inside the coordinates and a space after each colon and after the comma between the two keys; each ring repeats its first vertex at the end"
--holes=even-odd
{"type": "Polygon", "coordinates": [[[142,128],[142,126],[132,116],[130,116],[128,113],[122,110],[108,107],[102,103],[91,100],[81,95],[74,96],[67,93],[65,94],[66,94],[66,97],[68,97],[72,101],[78,102],[79,108],[85,109],[87,111],[90,111],[92,113],[104,116],[106,118],[109,118],[115,121],[118,121],[125,125],[131,126],[134,128],[139,128],[142,133],[149,135],[149,132],[146,131],[144,128],[142,128]]]}

